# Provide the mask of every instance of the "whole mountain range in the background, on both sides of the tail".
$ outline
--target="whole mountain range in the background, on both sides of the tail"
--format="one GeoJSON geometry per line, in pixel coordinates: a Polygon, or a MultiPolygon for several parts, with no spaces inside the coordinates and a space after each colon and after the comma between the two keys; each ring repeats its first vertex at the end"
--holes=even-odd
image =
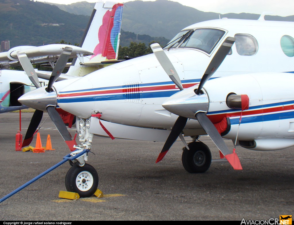
{"type": "MultiPolygon", "coordinates": [[[[79,43],[95,3],[47,4],[30,0],[0,0],[0,41],[10,46],[79,43]],[[83,14],[83,15],[81,15],[83,14]],[[61,24],[52,26],[50,24],[61,24]]],[[[224,14],[221,17],[258,19],[258,14],[224,14]]],[[[218,13],[203,12],[168,0],[125,3],[120,44],[151,41],[165,45],[181,29],[191,24],[218,19],[218,13]]],[[[294,16],[265,16],[266,20],[294,21],[294,16]]]]}

